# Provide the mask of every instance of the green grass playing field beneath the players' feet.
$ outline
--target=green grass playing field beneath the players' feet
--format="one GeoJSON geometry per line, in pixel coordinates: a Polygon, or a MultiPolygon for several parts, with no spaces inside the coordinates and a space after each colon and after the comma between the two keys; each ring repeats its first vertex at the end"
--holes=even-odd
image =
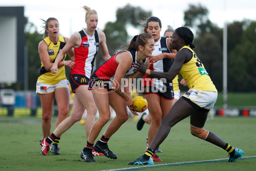
{"type": "MultiPolygon", "coordinates": [[[[42,138],[40,119],[1,117],[0,170],[253,171],[256,166],[255,123],[254,117],[215,117],[206,122],[205,129],[211,130],[233,147],[241,148],[245,152],[244,157],[236,162],[226,162],[228,157],[226,151],[192,136],[187,118],[175,125],[160,145],[163,153],[158,155],[163,162],[155,162],[150,167],[138,167],[127,165],[127,162],[143,154],[148,125],[138,131],[133,119],[126,122],[108,142],[109,148],[118,156],[116,160],[96,156],[96,163],[86,163],[80,158],[81,150],[86,145],[86,135],[84,125],[80,125],[79,122],[62,135],[61,155],[42,156],[39,145],[39,140],[42,138]],[[223,158],[225,159],[221,160],[223,158]],[[220,160],[214,161],[214,159],[220,160]]],[[[52,122],[52,131],[53,127],[55,127],[54,122],[52,122]]]]}

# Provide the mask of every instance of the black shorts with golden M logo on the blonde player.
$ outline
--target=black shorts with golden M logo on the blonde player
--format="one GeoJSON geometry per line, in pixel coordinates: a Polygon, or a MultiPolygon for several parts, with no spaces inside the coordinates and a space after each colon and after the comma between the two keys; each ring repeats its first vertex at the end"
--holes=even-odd
{"type": "Polygon", "coordinates": [[[70,74],[70,86],[73,93],[75,93],[75,90],[80,85],[88,85],[88,84],[89,84],[89,78],[87,78],[85,75],[70,74]]]}

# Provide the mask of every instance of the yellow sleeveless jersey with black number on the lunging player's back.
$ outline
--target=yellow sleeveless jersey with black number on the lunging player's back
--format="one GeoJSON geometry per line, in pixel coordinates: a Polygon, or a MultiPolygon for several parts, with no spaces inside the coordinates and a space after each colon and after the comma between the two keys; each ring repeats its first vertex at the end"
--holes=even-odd
{"type": "Polygon", "coordinates": [[[196,56],[195,52],[189,46],[183,46],[181,49],[184,48],[189,49],[193,54],[190,61],[183,64],[179,72],[188,83],[189,89],[217,92],[215,85],[212,83],[204,65],[196,56]]]}

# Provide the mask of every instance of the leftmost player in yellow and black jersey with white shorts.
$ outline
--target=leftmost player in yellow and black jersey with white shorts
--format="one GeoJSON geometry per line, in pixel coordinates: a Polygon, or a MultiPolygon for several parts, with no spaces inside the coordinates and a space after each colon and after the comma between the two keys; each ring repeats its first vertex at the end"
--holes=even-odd
{"type": "MultiPolygon", "coordinates": [[[[44,138],[50,135],[53,98],[55,98],[58,106],[58,117],[55,128],[67,117],[69,107],[69,86],[65,75],[65,67],[74,67],[74,62],[65,61],[66,54],[58,64],[58,74],[53,74],[50,69],[55,61],[58,52],[65,46],[69,38],[64,38],[59,33],[59,23],[56,18],[50,17],[44,22],[44,40],[38,45],[38,53],[41,58],[41,69],[36,84],[36,93],[39,94],[42,106],[42,130],[44,138]]],[[[73,58],[74,50],[67,52],[73,58]]],[[[60,154],[59,139],[55,139],[51,147],[53,154],[60,154]]],[[[42,145],[42,139],[40,140],[42,145]]]]}

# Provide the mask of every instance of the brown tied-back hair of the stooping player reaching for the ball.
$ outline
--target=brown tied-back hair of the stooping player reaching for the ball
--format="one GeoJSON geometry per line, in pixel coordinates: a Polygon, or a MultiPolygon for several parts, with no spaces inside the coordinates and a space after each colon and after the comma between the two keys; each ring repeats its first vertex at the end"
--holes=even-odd
{"type": "Polygon", "coordinates": [[[148,39],[153,39],[153,36],[149,35],[148,33],[141,33],[140,35],[135,35],[131,39],[131,43],[127,45],[121,46],[121,50],[119,52],[122,52],[124,50],[139,50],[139,46],[145,46],[148,39]]]}

